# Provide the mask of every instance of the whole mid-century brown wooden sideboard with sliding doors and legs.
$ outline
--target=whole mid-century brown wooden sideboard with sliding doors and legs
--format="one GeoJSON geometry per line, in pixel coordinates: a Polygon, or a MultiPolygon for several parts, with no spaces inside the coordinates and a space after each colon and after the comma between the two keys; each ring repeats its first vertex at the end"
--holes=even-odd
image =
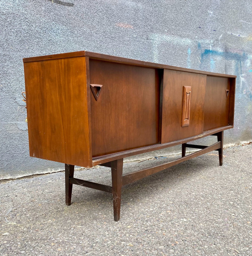
{"type": "Polygon", "coordinates": [[[117,221],[123,185],[213,150],[222,165],[236,76],[87,51],[23,61],[30,156],[65,163],[67,205],[72,184],[110,192],[117,221]],[[208,135],[217,142],[188,143],[208,135]],[[122,175],[124,157],[178,144],[180,159],[122,175]],[[95,165],[111,168],[112,186],[74,178],[74,166],[95,165]]]}

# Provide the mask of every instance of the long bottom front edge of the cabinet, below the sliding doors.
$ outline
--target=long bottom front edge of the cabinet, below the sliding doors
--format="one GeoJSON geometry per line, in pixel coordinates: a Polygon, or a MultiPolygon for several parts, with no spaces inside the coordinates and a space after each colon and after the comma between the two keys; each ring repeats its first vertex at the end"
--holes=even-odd
{"type": "Polygon", "coordinates": [[[158,150],[158,149],[163,149],[163,148],[168,148],[168,147],[180,145],[180,144],[183,144],[183,143],[186,143],[186,142],[197,140],[199,138],[204,138],[204,137],[209,136],[209,135],[215,135],[215,133],[217,133],[219,131],[224,131],[224,130],[231,129],[231,128],[233,128],[233,126],[229,125],[229,126],[226,126],[226,127],[213,129],[211,131],[206,131],[206,132],[204,132],[200,135],[192,136],[192,137],[185,138],[185,139],[182,139],[182,140],[176,140],[174,142],[167,142],[167,143],[152,145],[152,146],[148,146],[148,147],[122,151],[122,152],[119,152],[119,153],[104,155],[104,156],[101,156],[101,157],[94,157],[93,158],[93,166],[101,165],[103,163],[107,163],[108,161],[114,161],[114,160],[117,160],[117,159],[120,159],[120,158],[130,157],[132,155],[137,155],[137,154],[151,152],[151,151],[158,150]]]}

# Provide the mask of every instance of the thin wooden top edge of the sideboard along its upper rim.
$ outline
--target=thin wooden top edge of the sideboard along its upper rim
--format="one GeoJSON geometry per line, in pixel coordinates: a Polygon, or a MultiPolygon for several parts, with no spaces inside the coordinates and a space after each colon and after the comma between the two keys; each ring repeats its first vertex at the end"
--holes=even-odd
{"type": "Polygon", "coordinates": [[[175,67],[175,66],[158,64],[158,63],[153,63],[153,62],[145,62],[145,61],[141,61],[141,60],[133,60],[133,59],[128,59],[128,58],[122,58],[122,57],[100,54],[100,53],[96,53],[96,52],[87,52],[87,51],[68,52],[68,53],[60,53],[60,54],[53,54],[53,55],[24,58],[23,62],[24,63],[25,62],[36,62],[36,61],[43,61],[43,60],[55,60],[55,59],[61,59],[61,58],[73,58],[73,57],[81,57],[81,56],[87,56],[89,58],[98,59],[98,60],[119,62],[119,63],[124,63],[124,64],[131,64],[131,65],[139,65],[139,66],[144,66],[144,67],[172,69],[172,70],[177,70],[177,71],[186,71],[186,72],[191,72],[191,73],[199,73],[199,74],[212,75],[212,76],[218,76],[218,77],[232,77],[232,78],[236,77],[235,75],[226,75],[226,74],[213,73],[213,72],[207,72],[207,71],[201,71],[201,70],[195,70],[195,69],[187,69],[187,68],[183,68],[183,67],[175,67]]]}

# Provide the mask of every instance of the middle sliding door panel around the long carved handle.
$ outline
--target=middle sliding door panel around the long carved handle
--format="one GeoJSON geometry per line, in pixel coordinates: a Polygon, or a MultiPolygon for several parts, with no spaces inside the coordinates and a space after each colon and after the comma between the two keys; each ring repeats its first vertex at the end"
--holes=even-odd
{"type": "Polygon", "coordinates": [[[203,133],[206,75],[164,70],[161,143],[203,133]],[[190,125],[181,126],[183,86],[191,86],[190,125]]]}

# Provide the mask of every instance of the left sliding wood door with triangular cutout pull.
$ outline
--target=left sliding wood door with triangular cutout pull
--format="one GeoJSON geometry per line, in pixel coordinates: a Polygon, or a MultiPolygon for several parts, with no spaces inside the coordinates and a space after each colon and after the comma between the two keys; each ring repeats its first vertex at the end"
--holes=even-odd
{"type": "Polygon", "coordinates": [[[158,143],[159,81],[156,69],[90,60],[93,157],[158,143]],[[101,129],[102,127],[102,129],[101,129]]]}

